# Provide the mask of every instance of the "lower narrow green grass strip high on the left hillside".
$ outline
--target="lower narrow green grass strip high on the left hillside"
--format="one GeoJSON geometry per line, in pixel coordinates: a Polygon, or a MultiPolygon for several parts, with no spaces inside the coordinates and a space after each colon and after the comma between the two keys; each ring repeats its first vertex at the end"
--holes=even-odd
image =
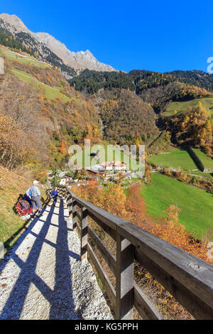
{"type": "Polygon", "coordinates": [[[43,82],[35,79],[33,75],[29,75],[28,73],[21,70],[16,70],[15,68],[13,68],[12,72],[16,75],[16,77],[18,77],[18,79],[22,81],[33,82],[36,87],[39,87],[44,91],[44,95],[45,97],[48,97],[48,99],[55,99],[56,97],[60,96],[62,98],[62,102],[67,102],[69,100],[69,97],[60,92],[60,87],[50,87],[45,85],[43,82]]]}

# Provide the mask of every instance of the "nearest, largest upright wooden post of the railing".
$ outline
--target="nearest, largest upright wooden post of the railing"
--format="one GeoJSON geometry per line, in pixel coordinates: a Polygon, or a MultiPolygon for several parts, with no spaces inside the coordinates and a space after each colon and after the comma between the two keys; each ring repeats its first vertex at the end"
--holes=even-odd
{"type": "Polygon", "coordinates": [[[133,244],[117,232],[116,320],[133,319],[133,259],[133,244]]]}

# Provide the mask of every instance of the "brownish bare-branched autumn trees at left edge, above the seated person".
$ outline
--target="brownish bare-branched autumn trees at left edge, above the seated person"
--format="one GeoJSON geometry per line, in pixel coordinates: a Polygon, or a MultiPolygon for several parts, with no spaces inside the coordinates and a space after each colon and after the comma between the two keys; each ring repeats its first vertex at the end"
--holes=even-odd
{"type": "Polygon", "coordinates": [[[13,77],[1,85],[0,129],[1,163],[14,168],[26,161],[45,161],[43,145],[48,136],[38,116],[38,94],[32,87],[13,77]]]}

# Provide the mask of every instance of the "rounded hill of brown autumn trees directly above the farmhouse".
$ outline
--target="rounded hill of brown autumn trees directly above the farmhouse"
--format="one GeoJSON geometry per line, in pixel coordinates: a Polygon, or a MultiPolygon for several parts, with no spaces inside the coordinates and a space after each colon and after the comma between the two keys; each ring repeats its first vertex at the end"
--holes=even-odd
{"type": "Polygon", "coordinates": [[[98,95],[104,138],[114,144],[147,144],[158,134],[155,112],[128,90],[105,90],[98,95]]]}

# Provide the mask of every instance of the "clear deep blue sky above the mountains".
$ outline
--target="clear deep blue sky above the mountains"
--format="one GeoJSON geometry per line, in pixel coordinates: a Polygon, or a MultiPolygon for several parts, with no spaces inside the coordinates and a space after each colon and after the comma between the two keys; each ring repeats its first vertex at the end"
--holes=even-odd
{"type": "Polygon", "coordinates": [[[7,0],[0,8],[117,70],[206,71],[213,56],[209,0],[7,0]]]}

